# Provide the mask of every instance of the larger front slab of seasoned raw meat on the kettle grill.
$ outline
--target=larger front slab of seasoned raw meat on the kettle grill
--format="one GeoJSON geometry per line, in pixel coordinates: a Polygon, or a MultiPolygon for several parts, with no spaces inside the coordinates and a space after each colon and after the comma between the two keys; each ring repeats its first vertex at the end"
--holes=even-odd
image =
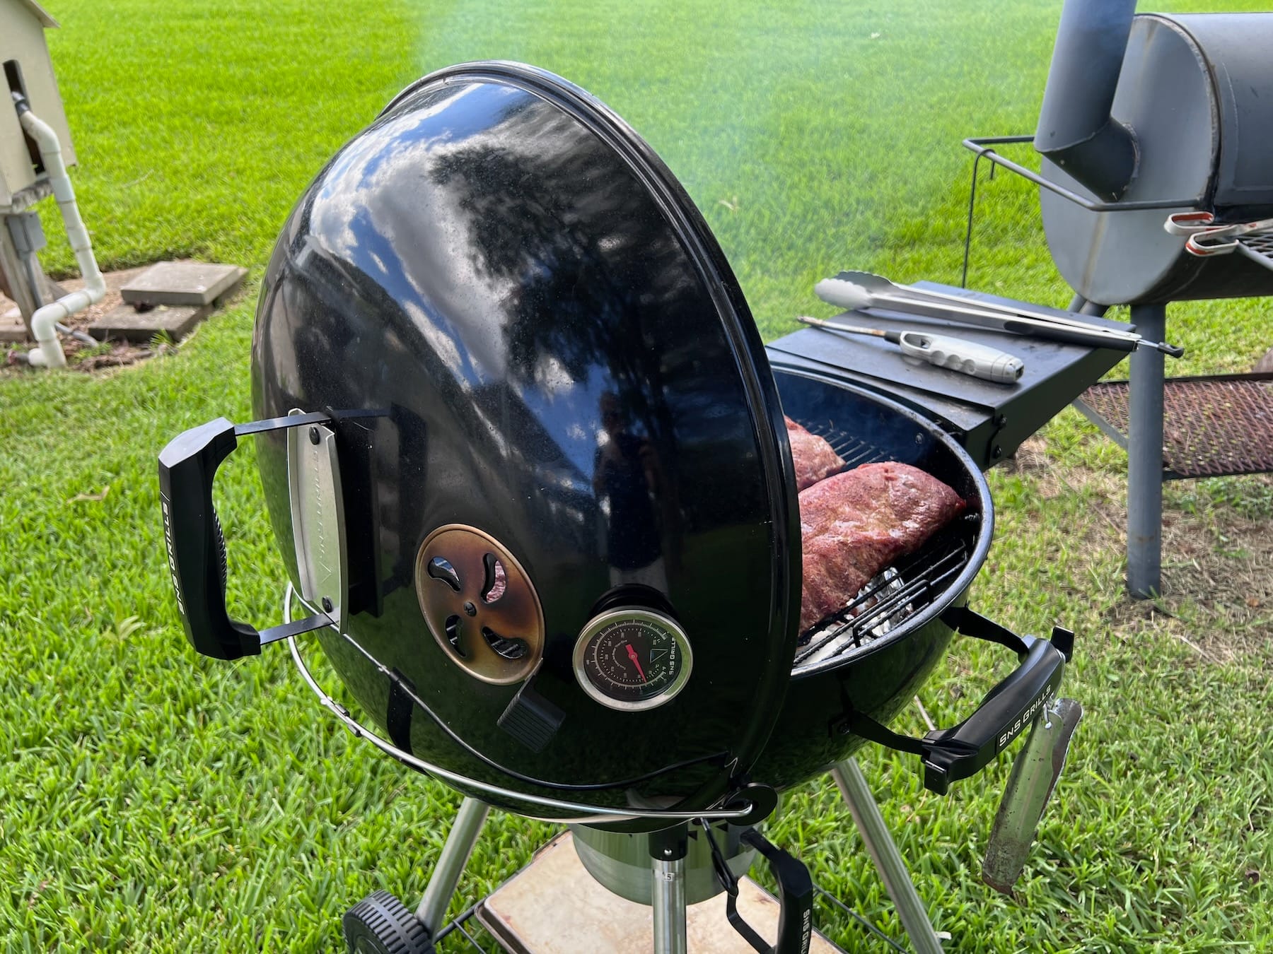
{"type": "Polygon", "coordinates": [[[894,462],[863,464],[802,491],[801,632],[848,605],[877,574],[919,550],[965,506],[932,474],[894,462]]]}

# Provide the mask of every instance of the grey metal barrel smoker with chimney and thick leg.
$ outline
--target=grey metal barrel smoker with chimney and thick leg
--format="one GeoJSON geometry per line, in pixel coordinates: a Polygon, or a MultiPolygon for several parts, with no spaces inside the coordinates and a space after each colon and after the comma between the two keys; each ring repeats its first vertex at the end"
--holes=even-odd
{"type": "MultiPolygon", "coordinates": [[[[1161,340],[1169,301],[1273,294],[1269,50],[1273,13],[1136,15],[1136,0],[1067,0],[1035,135],[965,145],[1040,186],[1073,310],[1129,304],[1136,329],[1161,340]],[[994,153],[1026,141],[1040,173],[994,153]],[[1195,254],[1192,226],[1169,216],[1268,228],[1195,254]]],[[[1130,364],[1128,589],[1147,597],[1161,589],[1164,360],[1141,350],[1130,364]]]]}

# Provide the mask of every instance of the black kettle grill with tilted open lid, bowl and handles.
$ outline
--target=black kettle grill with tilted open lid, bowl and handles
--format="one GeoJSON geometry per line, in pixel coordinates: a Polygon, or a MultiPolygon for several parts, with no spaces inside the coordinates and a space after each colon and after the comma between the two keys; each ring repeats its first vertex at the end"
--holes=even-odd
{"type": "Polygon", "coordinates": [[[429,75],[322,169],[270,259],[252,401],[261,420],[159,458],[190,641],[236,659],[313,631],[382,748],[512,812],[752,823],[864,739],[945,791],[1029,726],[1071,651],[967,609],[993,508],[964,449],[768,354],[668,169],[537,69],[429,75]],[[967,504],[806,633],[784,413],[967,504]],[[211,505],[246,434],[306,612],[262,631],[227,616],[211,505]],[[956,630],[1020,668],[959,726],[895,735],[956,630]]]}

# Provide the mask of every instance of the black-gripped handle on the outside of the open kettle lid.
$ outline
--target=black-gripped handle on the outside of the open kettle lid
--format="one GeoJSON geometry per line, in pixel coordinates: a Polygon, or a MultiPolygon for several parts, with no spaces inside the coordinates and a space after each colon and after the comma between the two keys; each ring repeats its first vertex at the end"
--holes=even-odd
{"type": "Polygon", "coordinates": [[[266,642],[330,626],[325,613],[257,631],[225,609],[225,538],[213,509],[213,480],[238,446],[237,435],[326,424],[325,413],[292,415],[234,426],[224,417],[177,435],[159,453],[159,502],[168,572],[181,623],[199,653],[213,659],[260,655],[266,642]]]}

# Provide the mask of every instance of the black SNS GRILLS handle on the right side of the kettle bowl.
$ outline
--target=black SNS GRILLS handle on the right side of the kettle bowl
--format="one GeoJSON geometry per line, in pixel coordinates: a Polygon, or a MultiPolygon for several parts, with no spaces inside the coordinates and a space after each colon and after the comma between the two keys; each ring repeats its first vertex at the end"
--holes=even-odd
{"type": "Polygon", "coordinates": [[[922,739],[900,735],[861,712],[849,712],[845,719],[849,731],[887,748],[919,756],[924,766],[924,787],[938,795],[945,795],[952,781],[979,772],[1030,728],[1035,716],[1057,695],[1074,646],[1074,633],[1059,626],[1053,628],[1051,640],[1017,636],[966,607],[948,622],[965,636],[1015,650],[1021,659],[1021,664],[985,695],[973,715],[951,729],[936,729],[922,739]]]}

